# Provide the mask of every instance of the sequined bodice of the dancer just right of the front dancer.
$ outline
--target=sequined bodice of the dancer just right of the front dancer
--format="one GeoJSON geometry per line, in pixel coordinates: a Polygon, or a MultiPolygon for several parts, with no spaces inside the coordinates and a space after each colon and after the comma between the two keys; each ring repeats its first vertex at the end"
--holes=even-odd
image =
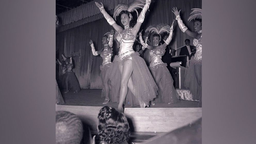
{"type": "Polygon", "coordinates": [[[163,63],[162,56],[164,55],[165,50],[161,50],[161,46],[157,46],[157,48],[153,51],[149,51],[149,56],[151,58],[150,67],[154,67],[158,64],[163,63]]]}

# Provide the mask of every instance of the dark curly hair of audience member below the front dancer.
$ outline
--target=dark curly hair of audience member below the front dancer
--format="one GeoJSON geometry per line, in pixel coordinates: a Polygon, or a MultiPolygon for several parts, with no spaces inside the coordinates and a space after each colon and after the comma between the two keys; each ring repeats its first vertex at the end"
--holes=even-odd
{"type": "Polygon", "coordinates": [[[105,106],[98,115],[99,136],[107,143],[119,144],[130,137],[130,127],[126,116],[114,108],[105,106]]]}

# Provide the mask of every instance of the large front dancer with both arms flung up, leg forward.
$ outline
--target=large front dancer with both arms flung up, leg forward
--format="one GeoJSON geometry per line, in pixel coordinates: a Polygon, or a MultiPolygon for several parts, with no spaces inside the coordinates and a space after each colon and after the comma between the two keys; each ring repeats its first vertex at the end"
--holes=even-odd
{"type": "Polygon", "coordinates": [[[121,26],[117,25],[115,20],[105,11],[102,3],[99,4],[95,2],[108,23],[118,32],[116,37],[119,43],[117,59],[120,61],[119,69],[122,73],[120,97],[117,108],[119,112],[123,112],[123,103],[128,88],[139,101],[141,108],[149,106],[149,101],[156,98],[157,95],[158,87],[150,74],[145,60],[135,53],[132,48],[150,3],[151,0],[136,0],[130,7],[124,4],[117,5],[114,10],[114,18],[116,19],[118,15],[121,15],[121,22],[124,26],[123,29],[121,26]],[[134,27],[131,27],[131,12],[136,11],[138,15],[137,9],[142,8],[142,6],[144,7],[137,19],[137,23],[134,27]]]}

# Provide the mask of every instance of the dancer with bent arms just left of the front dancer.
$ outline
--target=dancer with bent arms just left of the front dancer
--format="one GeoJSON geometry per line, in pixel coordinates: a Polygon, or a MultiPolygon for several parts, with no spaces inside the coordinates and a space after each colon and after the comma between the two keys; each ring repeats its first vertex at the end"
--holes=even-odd
{"type": "MultiPolygon", "coordinates": [[[[100,55],[103,59],[102,61],[102,65],[100,65],[100,76],[102,79],[102,84],[103,84],[103,88],[102,88],[102,92],[101,92],[101,97],[105,96],[105,101],[102,104],[108,104],[110,101],[109,95],[110,95],[110,85],[109,85],[109,79],[110,79],[110,73],[111,73],[111,69],[109,68],[111,65],[111,57],[113,55],[113,39],[114,39],[114,30],[111,30],[110,32],[106,33],[103,37],[102,37],[102,44],[104,45],[103,49],[99,50],[99,51],[95,51],[94,45],[92,40],[90,40],[90,44],[92,47],[92,54],[93,55],[100,55]]],[[[111,89],[112,94],[111,97],[113,97],[111,99],[112,102],[117,102],[117,98],[115,100],[114,97],[116,96],[117,93],[113,92],[114,87],[112,87],[113,89],[111,89]]],[[[118,90],[117,90],[118,91],[118,90]]]]}

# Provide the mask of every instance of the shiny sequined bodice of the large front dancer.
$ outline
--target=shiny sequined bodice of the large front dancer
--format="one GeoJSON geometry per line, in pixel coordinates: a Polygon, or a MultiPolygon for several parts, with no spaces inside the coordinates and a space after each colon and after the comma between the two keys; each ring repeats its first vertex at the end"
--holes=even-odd
{"type": "Polygon", "coordinates": [[[118,33],[116,36],[117,41],[120,43],[120,48],[118,52],[118,57],[120,59],[124,59],[131,55],[132,53],[135,53],[132,46],[135,42],[136,38],[132,34],[132,28],[125,28],[124,34],[118,33]]]}

